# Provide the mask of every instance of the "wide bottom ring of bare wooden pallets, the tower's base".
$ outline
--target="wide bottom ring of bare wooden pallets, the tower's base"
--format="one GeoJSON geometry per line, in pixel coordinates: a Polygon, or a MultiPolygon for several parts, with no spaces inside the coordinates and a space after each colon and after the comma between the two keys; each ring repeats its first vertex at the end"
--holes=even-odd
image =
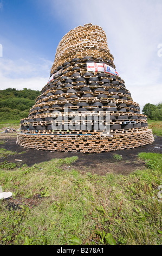
{"type": "Polygon", "coordinates": [[[17,134],[17,143],[25,148],[90,154],[136,148],[153,141],[150,129],[115,135],[104,135],[102,132],[95,132],[94,135],[17,134]]]}

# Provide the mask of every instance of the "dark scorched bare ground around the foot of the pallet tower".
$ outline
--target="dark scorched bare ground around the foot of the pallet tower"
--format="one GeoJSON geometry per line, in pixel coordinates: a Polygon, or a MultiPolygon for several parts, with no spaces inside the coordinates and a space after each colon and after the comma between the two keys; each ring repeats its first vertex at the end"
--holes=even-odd
{"type": "Polygon", "coordinates": [[[0,163],[6,160],[8,162],[15,162],[17,166],[21,166],[22,164],[32,166],[35,163],[49,161],[54,158],[63,159],[65,157],[77,156],[78,160],[73,164],[73,168],[78,169],[81,172],[91,172],[100,175],[105,175],[107,173],[121,173],[126,175],[135,169],[145,168],[145,163],[138,159],[138,153],[162,153],[162,137],[155,136],[154,139],[155,141],[153,143],[134,149],[116,150],[99,154],[83,154],[70,152],[59,153],[23,148],[16,144],[16,133],[13,133],[12,135],[3,134],[0,135],[0,142],[5,141],[5,143],[1,144],[0,148],[15,151],[17,154],[9,155],[5,157],[5,159],[2,157],[0,163]],[[25,153],[18,154],[24,151],[25,153]],[[115,160],[113,157],[114,154],[121,155],[122,160],[115,160]]]}

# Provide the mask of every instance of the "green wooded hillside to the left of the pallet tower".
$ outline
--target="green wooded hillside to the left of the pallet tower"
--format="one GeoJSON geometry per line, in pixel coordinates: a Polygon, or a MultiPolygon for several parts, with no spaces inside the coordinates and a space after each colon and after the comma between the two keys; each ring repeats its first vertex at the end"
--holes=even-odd
{"type": "Polygon", "coordinates": [[[20,120],[27,117],[29,109],[35,104],[36,97],[40,94],[38,90],[27,88],[0,90],[0,120],[20,120]]]}

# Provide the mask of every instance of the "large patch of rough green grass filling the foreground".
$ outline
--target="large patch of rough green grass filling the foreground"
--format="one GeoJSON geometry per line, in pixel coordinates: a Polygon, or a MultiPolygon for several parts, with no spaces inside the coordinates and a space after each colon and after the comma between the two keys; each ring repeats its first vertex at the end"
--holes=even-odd
{"type": "Polygon", "coordinates": [[[3,191],[20,204],[0,200],[1,245],[160,245],[162,158],[139,159],[146,168],[129,175],[81,174],[77,157],[2,168],[3,191]]]}

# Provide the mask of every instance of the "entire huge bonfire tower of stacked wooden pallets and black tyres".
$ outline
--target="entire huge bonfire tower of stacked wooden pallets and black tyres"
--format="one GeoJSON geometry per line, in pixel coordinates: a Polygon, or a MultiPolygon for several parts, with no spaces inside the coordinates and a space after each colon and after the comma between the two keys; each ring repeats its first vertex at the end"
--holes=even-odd
{"type": "Polygon", "coordinates": [[[28,118],[21,120],[17,143],[40,150],[100,153],[153,141],[146,115],[115,70],[102,28],[87,24],[64,35],[48,83],[28,118]]]}

